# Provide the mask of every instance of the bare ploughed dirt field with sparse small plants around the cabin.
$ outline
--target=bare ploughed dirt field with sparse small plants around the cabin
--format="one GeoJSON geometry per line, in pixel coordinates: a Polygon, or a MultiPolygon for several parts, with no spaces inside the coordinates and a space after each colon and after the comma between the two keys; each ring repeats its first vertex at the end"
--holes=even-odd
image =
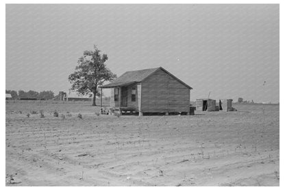
{"type": "Polygon", "coordinates": [[[6,185],[280,184],[279,105],[115,117],[97,116],[99,107],[89,104],[6,102],[6,174],[14,178],[6,185]],[[43,110],[45,118],[27,117],[32,110],[43,110]]]}

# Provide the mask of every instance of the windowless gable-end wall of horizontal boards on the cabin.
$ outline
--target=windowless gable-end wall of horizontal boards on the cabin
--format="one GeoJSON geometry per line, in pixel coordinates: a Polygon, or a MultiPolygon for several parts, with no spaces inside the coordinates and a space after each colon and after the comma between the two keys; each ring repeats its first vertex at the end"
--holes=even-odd
{"type": "Polygon", "coordinates": [[[142,82],[142,112],[189,112],[190,90],[162,70],[142,82]]]}

